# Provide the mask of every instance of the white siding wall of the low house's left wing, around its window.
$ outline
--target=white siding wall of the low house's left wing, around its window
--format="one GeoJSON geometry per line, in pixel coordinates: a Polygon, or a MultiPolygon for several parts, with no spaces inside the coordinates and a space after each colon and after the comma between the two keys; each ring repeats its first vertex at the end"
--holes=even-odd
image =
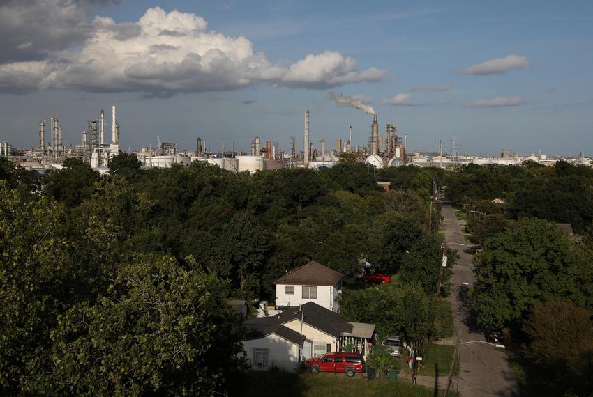
{"type": "Polygon", "coordinates": [[[254,370],[266,371],[272,367],[278,367],[287,371],[296,371],[299,368],[299,346],[276,334],[242,343],[249,363],[253,359],[253,349],[268,349],[268,367],[252,366],[254,370]]]}

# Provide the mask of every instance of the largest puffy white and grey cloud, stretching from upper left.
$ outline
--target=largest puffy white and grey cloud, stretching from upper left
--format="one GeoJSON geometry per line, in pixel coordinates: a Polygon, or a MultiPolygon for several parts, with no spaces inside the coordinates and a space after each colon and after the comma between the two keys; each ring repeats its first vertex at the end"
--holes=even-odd
{"type": "MultiPolygon", "coordinates": [[[[260,83],[322,89],[379,81],[386,73],[377,68],[359,71],[354,59],[332,51],[308,54],[287,65],[271,63],[262,52],[254,52],[247,38],[209,31],[207,21],[193,13],[167,13],[157,7],[147,10],[137,22],[118,23],[99,16],[89,20],[89,0],[40,3],[52,4],[54,13],[68,13],[66,19],[72,23],[66,36],[73,31],[81,33],[77,40],[56,39],[53,49],[52,43],[33,41],[35,51],[45,54],[38,59],[0,60],[0,91],[75,88],[160,96],[260,83]]],[[[5,33],[11,35],[10,31],[5,33]]],[[[27,40],[11,36],[9,45],[27,49],[27,40]]]]}

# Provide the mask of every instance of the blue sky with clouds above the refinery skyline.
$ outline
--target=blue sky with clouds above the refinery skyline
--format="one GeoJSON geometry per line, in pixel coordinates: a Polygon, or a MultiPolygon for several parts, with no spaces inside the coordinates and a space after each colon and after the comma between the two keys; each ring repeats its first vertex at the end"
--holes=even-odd
{"type": "Polygon", "coordinates": [[[366,105],[409,152],[591,156],[592,71],[592,1],[0,0],[14,148],[52,115],[79,144],[112,105],[124,150],[302,150],[305,110],[317,146],[363,146],[366,105]]]}

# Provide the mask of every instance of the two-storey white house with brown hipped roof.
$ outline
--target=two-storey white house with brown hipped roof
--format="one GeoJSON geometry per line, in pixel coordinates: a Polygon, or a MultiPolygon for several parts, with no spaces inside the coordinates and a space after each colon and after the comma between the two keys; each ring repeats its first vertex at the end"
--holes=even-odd
{"type": "Polygon", "coordinates": [[[297,267],[274,281],[276,306],[301,306],[308,302],[338,311],[336,299],[342,288],[344,274],[315,261],[297,267]]]}

